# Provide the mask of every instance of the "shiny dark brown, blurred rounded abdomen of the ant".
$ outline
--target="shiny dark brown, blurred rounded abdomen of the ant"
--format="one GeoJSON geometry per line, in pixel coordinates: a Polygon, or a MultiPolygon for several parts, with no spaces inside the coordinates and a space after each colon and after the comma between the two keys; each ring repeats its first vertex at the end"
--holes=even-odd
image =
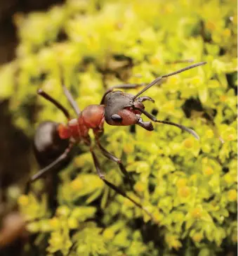
{"type": "MultiPolygon", "coordinates": [[[[69,146],[69,139],[61,139],[58,134],[58,123],[46,121],[39,124],[34,135],[34,155],[40,167],[46,167],[58,158],[69,146]]],[[[67,165],[67,161],[60,163],[60,168],[67,165]]],[[[55,167],[55,169],[58,169],[55,167]]]]}

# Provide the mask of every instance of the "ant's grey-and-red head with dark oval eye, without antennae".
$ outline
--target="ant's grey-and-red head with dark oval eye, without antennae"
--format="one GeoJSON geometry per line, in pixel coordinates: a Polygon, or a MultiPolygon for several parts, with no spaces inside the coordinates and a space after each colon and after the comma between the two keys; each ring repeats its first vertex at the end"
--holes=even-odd
{"type": "Polygon", "coordinates": [[[138,122],[140,112],[134,108],[145,106],[140,101],[133,101],[132,94],[112,91],[105,97],[105,121],[110,125],[131,125],[138,122]]]}

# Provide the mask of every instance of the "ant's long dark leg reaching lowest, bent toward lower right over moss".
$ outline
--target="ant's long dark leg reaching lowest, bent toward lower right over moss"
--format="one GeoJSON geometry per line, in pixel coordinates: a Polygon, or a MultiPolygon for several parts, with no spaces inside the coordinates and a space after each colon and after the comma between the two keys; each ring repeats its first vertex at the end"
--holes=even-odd
{"type": "Polygon", "coordinates": [[[151,219],[153,219],[154,222],[156,222],[154,220],[154,217],[152,216],[152,214],[150,212],[148,212],[146,210],[145,207],[143,207],[143,205],[140,205],[140,203],[137,203],[135,200],[133,200],[131,197],[127,196],[126,193],[124,191],[122,191],[120,188],[118,188],[117,186],[115,186],[114,184],[112,184],[110,181],[107,181],[107,179],[105,179],[105,175],[101,172],[100,170],[100,163],[98,161],[98,158],[96,157],[95,153],[93,152],[93,150],[91,149],[91,154],[93,156],[93,162],[95,165],[95,168],[98,172],[98,176],[100,177],[100,179],[103,180],[103,182],[109,186],[110,188],[112,188],[114,191],[116,191],[117,193],[119,193],[121,196],[123,196],[124,198],[127,198],[128,200],[130,200],[133,204],[135,204],[137,207],[139,207],[141,210],[143,210],[147,215],[150,216],[151,219]]]}

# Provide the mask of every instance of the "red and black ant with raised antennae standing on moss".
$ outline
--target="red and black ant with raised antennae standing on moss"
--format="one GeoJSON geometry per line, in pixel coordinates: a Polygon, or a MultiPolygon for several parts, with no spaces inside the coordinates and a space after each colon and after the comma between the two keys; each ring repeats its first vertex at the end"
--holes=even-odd
{"type": "Polygon", "coordinates": [[[83,142],[89,146],[89,150],[93,157],[93,162],[95,168],[98,172],[98,176],[102,179],[107,186],[112,188],[114,191],[119,193],[124,198],[128,198],[135,205],[147,212],[148,215],[151,214],[148,212],[145,207],[140,205],[140,203],[135,202],[131,197],[126,195],[124,191],[114,186],[110,181],[105,179],[105,175],[101,171],[100,163],[96,157],[93,147],[91,146],[91,138],[88,134],[89,129],[93,129],[93,134],[95,136],[95,143],[100,148],[100,151],[105,155],[106,158],[116,162],[121,169],[121,172],[125,175],[128,181],[131,182],[131,177],[126,171],[126,168],[122,164],[121,160],[112,153],[108,152],[100,143],[100,135],[103,134],[103,124],[107,122],[110,125],[125,126],[131,124],[138,124],[140,127],[152,131],[154,129],[152,122],[144,122],[140,117],[141,114],[147,116],[153,122],[160,122],[164,124],[170,124],[176,126],[186,132],[189,132],[196,139],[199,139],[199,136],[192,129],[184,127],[182,124],[176,124],[168,121],[157,120],[156,117],[151,115],[145,110],[143,101],[152,101],[154,100],[149,96],[140,96],[144,91],[152,87],[154,84],[159,84],[166,77],[176,75],[185,70],[190,70],[191,68],[204,65],[206,62],[196,63],[176,72],[171,72],[168,75],[162,75],[157,77],[153,82],[148,84],[144,89],[142,89],[138,94],[133,96],[132,94],[127,94],[122,91],[114,91],[114,89],[131,89],[141,87],[143,84],[122,84],[119,86],[114,86],[108,89],[103,95],[100,105],[88,105],[84,110],[80,111],[77,103],[74,101],[70,91],[67,90],[65,85],[62,83],[62,89],[69,101],[70,105],[74,109],[74,112],[77,115],[77,118],[71,118],[68,111],[63,107],[59,101],[56,101],[54,98],[46,94],[46,92],[39,89],[37,93],[46,98],[46,100],[53,103],[57,108],[59,108],[65,117],[67,117],[67,124],[58,124],[56,122],[43,122],[39,125],[37,132],[34,136],[34,152],[36,158],[40,165],[45,165],[44,160],[50,156],[53,161],[46,165],[43,169],[39,170],[37,174],[31,178],[32,181],[36,181],[42,177],[46,172],[52,170],[60,162],[67,159],[72,147],[75,143],[83,142]],[[140,96],[140,97],[138,97],[140,96]]]}

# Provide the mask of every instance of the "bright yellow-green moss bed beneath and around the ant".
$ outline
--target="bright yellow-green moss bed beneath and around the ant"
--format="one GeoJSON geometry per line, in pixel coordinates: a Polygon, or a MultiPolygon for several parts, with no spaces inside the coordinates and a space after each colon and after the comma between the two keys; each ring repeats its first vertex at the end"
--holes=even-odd
{"type": "MultiPolygon", "coordinates": [[[[69,0],[46,13],[15,15],[20,44],[17,58],[1,68],[0,97],[9,99],[15,124],[29,136],[43,120],[65,121],[36,94],[42,88],[67,105],[61,72],[83,109],[100,103],[106,87],[151,82],[187,65],[168,62],[208,62],[146,93],[155,100],[146,103],[148,111],[159,110],[160,120],[193,127],[200,141],[164,124],[155,124],[154,132],[136,127],[134,133],[105,124],[103,145],[133,173],[141,203],[159,224],[104,186],[85,148],[58,174],[54,213],[47,195],[19,198],[29,231],[39,233],[39,250],[48,255],[203,256],[237,243],[235,10],[235,1],[69,0]]],[[[98,156],[106,177],[123,187],[117,165],[98,156]]]]}

